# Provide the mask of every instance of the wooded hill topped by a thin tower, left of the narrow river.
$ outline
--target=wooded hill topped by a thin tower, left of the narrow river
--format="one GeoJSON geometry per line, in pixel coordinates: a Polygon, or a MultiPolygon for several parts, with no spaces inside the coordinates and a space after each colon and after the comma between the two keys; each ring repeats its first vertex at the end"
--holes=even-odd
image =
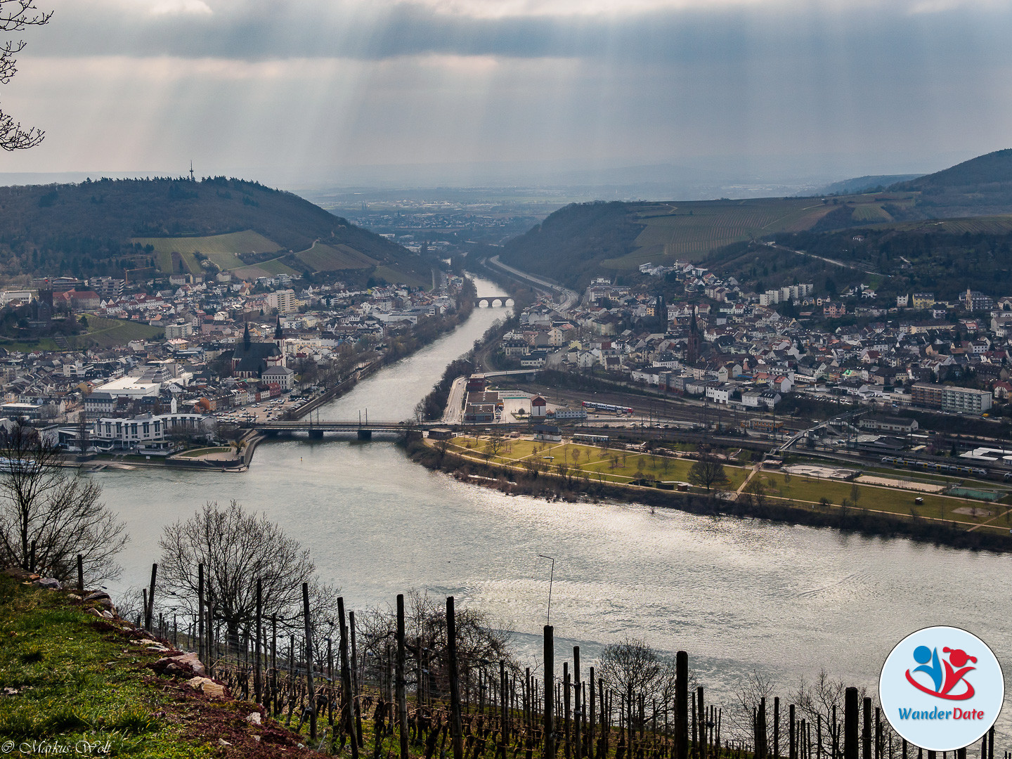
{"type": "Polygon", "coordinates": [[[290,192],[225,177],[0,188],[0,271],[340,271],[424,285],[431,261],[290,192]]]}

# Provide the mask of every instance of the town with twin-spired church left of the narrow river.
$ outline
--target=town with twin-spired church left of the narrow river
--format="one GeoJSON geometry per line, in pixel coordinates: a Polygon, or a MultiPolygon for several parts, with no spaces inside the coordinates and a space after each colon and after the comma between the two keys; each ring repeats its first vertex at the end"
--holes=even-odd
{"type": "MultiPolygon", "coordinates": [[[[0,416],[49,429],[69,450],[164,456],[194,438],[212,439],[261,402],[267,418],[356,369],[396,356],[418,339],[421,321],[472,306],[470,283],[442,276],[433,291],[404,285],[367,290],[340,282],[299,286],[280,275],[232,281],[219,274],[170,277],[165,288],[98,277],[64,277],[3,292],[0,314],[41,337],[54,326],[101,320],[109,334],[146,326],[152,337],[108,347],[0,347],[0,416]],[[115,320],[115,321],[110,321],[115,320]],[[18,348],[21,349],[18,349],[18,348]]],[[[431,337],[431,336],[429,336],[431,337]]],[[[48,338],[36,340],[41,345],[48,338]]]]}

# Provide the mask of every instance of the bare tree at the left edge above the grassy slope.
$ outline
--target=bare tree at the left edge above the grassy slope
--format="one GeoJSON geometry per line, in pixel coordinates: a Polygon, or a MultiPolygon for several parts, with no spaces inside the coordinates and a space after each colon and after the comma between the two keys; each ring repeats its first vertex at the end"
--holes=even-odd
{"type": "Polygon", "coordinates": [[[58,580],[76,576],[78,554],[89,581],[116,577],[125,525],[99,500],[100,485],[62,462],[31,427],[0,435],[0,562],[31,569],[34,546],[35,568],[58,580]]]}

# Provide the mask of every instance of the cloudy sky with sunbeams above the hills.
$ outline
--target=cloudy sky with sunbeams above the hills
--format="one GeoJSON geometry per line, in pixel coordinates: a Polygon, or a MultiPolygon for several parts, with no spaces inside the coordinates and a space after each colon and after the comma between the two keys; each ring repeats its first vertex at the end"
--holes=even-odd
{"type": "Polygon", "coordinates": [[[845,178],[1012,147],[1008,0],[36,4],[0,107],[46,140],[0,172],[845,178]]]}

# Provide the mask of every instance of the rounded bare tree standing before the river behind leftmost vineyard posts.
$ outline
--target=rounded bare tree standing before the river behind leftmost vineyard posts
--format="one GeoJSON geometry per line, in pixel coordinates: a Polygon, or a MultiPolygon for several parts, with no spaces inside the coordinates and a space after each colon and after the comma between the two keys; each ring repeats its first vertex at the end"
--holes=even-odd
{"type": "Polygon", "coordinates": [[[262,581],[264,614],[300,613],[302,584],[313,595],[313,616],[330,615],[334,591],[320,584],[308,550],[287,537],[265,514],[247,512],[236,501],[207,502],[192,517],[165,527],[159,540],[159,583],[195,612],[198,566],[204,567],[204,590],[230,640],[256,613],[256,581],[262,581]]]}

